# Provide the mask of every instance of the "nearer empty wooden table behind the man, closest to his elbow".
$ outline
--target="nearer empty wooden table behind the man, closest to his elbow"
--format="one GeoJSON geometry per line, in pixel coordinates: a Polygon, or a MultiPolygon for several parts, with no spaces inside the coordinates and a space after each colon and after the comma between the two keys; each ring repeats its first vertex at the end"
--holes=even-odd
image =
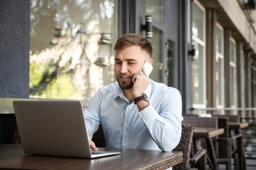
{"type": "Polygon", "coordinates": [[[224,129],[215,129],[215,128],[198,128],[195,127],[194,129],[194,135],[193,135],[193,140],[195,144],[196,150],[201,147],[201,139],[205,139],[206,144],[207,144],[207,152],[209,152],[209,163],[213,169],[219,169],[219,166],[217,164],[216,160],[216,154],[215,154],[215,149],[213,146],[213,141],[211,140],[213,137],[217,137],[218,135],[221,135],[224,133],[224,129]]]}

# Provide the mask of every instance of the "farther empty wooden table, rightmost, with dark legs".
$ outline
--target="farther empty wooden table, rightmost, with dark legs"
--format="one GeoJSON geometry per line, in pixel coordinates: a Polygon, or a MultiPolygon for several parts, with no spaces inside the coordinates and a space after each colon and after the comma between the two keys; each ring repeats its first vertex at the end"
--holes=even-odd
{"type": "Polygon", "coordinates": [[[238,150],[238,154],[234,158],[234,163],[241,170],[246,169],[242,129],[248,126],[249,124],[247,122],[228,122],[229,135],[235,141],[232,143],[232,148],[233,150],[238,150]]]}

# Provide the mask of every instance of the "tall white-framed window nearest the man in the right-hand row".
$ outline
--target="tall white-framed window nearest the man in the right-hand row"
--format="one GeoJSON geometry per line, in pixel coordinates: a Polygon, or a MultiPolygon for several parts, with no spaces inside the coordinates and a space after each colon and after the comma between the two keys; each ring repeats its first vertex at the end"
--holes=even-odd
{"type": "Polygon", "coordinates": [[[199,3],[193,3],[192,40],[196,61],[192,62],[192,96],[193,107],[205,107],[205,12],[199,3]]]}

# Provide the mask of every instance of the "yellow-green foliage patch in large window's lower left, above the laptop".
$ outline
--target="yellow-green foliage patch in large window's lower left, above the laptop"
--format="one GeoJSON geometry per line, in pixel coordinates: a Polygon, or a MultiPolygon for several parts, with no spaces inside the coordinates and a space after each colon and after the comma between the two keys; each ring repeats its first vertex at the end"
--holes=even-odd
{"type": "Polygon", "coordinates": [[[75,96],[72,73],[47,61],[30,63],[30,97],[67,99],[75,96]]]}

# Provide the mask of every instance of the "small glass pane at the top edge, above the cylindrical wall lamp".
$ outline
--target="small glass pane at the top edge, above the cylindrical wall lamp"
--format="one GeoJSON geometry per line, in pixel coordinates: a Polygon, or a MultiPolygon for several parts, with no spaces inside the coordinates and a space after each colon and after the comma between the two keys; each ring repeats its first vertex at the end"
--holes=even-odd
{"type": "Polygon", "coordinates": [[[146,14],[163,23],[163,0],[146,0],[146,14]]]}

